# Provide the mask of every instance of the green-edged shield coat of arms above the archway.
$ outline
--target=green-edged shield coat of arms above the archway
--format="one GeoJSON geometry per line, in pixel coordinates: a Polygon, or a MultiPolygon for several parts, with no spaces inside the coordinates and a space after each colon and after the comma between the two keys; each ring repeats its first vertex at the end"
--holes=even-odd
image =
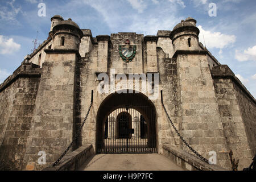
{"type": "Polygon", "coordinates": [[[119,54],[123,61],[130,62],[134,59],[136,55],[137,46],[130,46],[130,40],[125,40],[125,45],[119,46],[119,54]]]}

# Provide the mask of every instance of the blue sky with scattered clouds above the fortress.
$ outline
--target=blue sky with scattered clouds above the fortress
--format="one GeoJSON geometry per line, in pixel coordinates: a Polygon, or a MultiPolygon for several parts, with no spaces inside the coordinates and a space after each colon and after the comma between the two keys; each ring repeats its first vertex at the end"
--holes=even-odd
{"type": "Polygon", "coordinates": [[[33,40],[47,39],[53,15],[71,18],[93,37],[118,32],[156,35],[191,16],[197,20],[200,42],[256,98],[255,8],[255,0],[0,0],[0,83],[32,52],[33,40]],[[40,3],[45,16],[40,15],[40,3]],[[214,15],[211,3],[216,5],[214,15]]]}

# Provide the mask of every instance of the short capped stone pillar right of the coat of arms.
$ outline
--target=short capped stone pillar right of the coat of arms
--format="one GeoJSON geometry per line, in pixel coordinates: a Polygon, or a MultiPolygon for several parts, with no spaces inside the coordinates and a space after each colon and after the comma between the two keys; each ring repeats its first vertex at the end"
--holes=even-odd
{"type": "Polygon", "coordinates": [[[158,72],[158,61],[156,57],[156,42],[158,41],[157,36],[145,36],[144,42],[146,42],[146,52],[147,52],[147,73],[158,72]]]}

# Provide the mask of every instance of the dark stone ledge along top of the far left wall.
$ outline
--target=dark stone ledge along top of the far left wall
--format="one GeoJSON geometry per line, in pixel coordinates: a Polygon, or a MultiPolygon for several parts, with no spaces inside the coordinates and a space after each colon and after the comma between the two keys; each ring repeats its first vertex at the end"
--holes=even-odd
{"type": "Polygon", "coordinates": [[[19,68],[13,72],[13,75],[10,75],[5,81],[3,81],[2,84],[0,84],[0,93],[21,77],[41,77],[40,65],[33,63],[22,63],[22,65],[20,65],[19,68]]]}

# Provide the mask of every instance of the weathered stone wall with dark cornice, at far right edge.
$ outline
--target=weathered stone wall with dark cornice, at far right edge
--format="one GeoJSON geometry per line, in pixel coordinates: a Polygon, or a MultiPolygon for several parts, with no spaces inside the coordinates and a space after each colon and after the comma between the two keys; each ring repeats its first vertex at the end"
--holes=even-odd
{"type": "Polygon", "coordinates": [[[227,65],[214,67],[212,77],[227,150],[242,170],[255,155],[255,100],[227,65]]]}

